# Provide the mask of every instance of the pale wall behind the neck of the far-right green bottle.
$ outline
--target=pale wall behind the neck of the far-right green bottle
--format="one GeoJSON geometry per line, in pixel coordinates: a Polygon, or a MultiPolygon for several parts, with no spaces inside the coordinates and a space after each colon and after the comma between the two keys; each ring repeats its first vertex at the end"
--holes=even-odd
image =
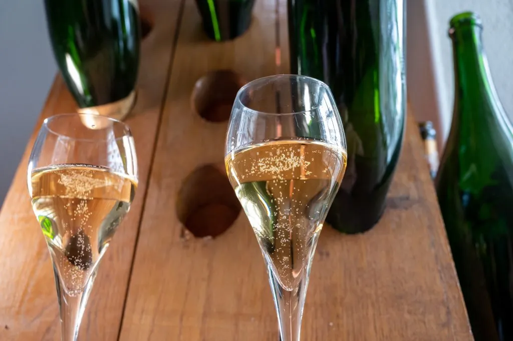
{"type": "MultiPolygon", "coordinates": [[[[450,18],[474,11],[483,22],[483,44],[497,92],[513,119],[513,1],[511,0],[409,0],[408,1],[408,91],[418,119],[436,123],[439,145],[445,140],[452,119],[454,75],[452,47],[447,35],[450,18]],[[430,32],[426,38],[421,22],[430,32]],[[429,58],[422,55],[429,53],[429,58]],[[426,62],[427,61],[427,62],[426,62]],[[430,77],[430,75],[435,75],[430,77]],[[436,91],[432,91],[435,86],[436,91]]],[[[442,148],[441,146],[439,146],[442,148]]]]}

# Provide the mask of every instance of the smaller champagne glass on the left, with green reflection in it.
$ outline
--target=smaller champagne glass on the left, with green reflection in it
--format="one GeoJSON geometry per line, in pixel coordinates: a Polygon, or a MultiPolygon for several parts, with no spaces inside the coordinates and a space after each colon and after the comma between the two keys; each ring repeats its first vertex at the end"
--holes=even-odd
{"type": "Polygon", "coordinates": [[[98,264],[137,187],[130,129],[95,114],[45,119],[27,172],[50,251],[62,341],[75,341],[98,264]]]}

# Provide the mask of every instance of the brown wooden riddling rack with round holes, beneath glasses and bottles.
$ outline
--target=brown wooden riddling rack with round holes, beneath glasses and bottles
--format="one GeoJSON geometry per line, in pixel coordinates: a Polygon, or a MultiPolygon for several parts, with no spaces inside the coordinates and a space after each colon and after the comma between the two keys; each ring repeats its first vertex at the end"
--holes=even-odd
{"type": "MultiPolygon", "coordinates": [[[[139,192],[102,261],[80,339],[275,341],[264,262],[245,215],[213,239],[184,237],[181,215],[206,193],[205,181],[220,191],[226,185],[216,173],[226,122],[194,112],[195,82],[218,69],[247,80],[287,72],[286,2],[258,0],[250,30],[226,43],[206,39],[193,1],[148,0],[141,13],[153,29],[126,119],[139,155],[139,192]]],[[[74,110],[57,76],[35,129],[45,117],[74,110]]],[[[34,137],[0,212],[2,341],[60,335],[51,262],[26,189],[34,137]]],[[[362,235],[323,229],[304,340],[472,340],[422,151],[410,115],[380,223],[362,235]]]]}

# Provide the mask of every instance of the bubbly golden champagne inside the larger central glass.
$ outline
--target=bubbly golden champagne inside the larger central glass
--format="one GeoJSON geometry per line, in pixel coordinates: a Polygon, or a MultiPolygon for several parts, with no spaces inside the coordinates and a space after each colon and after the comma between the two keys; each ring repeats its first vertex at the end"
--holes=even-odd
{"type": "Polygon", "coordinates": [[[336,189],[339,150],[307,139],[251,146],[230,154],[230,182],[243,204],[273,276],[286,290],[299,285],[336,189]],[[328,170],[328,171],[327,171],[328,170]]]}

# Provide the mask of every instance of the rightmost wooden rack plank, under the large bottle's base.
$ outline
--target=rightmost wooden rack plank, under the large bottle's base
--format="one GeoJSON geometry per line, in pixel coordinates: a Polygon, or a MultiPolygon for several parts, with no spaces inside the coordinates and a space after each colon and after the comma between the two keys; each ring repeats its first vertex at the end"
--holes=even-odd
{"type": "MultiPolygon", "coordinates": [[[[286,2],[279,1],[279,8],[286,22],[286,2]]],[[[280,25],[280,36],[288,51],[286,25],[280,25]]],[[[287,72],[285,54],[281,64],[287,72]]],[[[310,274],[304,339],[473,340],[409,105],[404,139],[378,225],[353,236],[329,225],[323,229],[310,274]]]]}

